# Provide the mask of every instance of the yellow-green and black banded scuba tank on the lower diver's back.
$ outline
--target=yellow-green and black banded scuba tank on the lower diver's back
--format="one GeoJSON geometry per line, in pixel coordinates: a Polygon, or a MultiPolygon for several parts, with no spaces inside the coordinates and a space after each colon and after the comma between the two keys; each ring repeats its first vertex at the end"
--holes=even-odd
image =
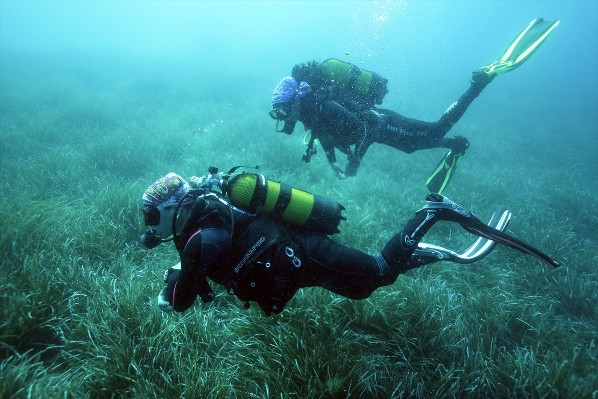
{"type": "Polygon", "coordinates": [[[249,212],[263,214],[306,230],[324,234],[340,233],[338,224],[346,217],[338,202],[307,193],[264,175],[242,173],[227,182],[224,188],[230,203],[249,212]]]}

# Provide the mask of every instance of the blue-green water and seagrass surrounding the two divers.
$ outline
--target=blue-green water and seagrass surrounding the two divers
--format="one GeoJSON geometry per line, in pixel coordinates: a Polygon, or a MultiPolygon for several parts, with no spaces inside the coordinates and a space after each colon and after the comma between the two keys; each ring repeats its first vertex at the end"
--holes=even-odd
{"type": "MultiPolygon", "coordinates": [[[[0,397],[598,397],[598,2],[0,1],[0,397]],[[160,312],[170,243],[139,205],[168,172],[260,166],[343,204],[343,245],[377,254],[422,206],[446,150],[374,144],[355,178],[268,115],[292,66],[331,57],[389,80],[427,121],[531,20],[560,25],[448,137],[471,142],[443,192],[563,267],[499,245],[367,300],[300,290],[267,318],[216,299],[160,312]]],[[[339,157],[344,165],[344,157],[339,157]]],[[[424,241],[472,240],[437,224],[424,241]]]]}

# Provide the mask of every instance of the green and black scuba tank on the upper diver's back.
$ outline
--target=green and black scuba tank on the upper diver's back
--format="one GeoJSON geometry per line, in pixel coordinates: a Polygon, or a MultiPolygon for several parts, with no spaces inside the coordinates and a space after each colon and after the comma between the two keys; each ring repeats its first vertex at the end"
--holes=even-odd
{"type": "Polygon", "coordinates": [[[343,86],[355,95],[382,104],[382,99],[388,93],[386,84],[388,79],[376,72],[366,71],[355,64],[334,58],[322,62],[322,78],[325,86],[343,86]]]}

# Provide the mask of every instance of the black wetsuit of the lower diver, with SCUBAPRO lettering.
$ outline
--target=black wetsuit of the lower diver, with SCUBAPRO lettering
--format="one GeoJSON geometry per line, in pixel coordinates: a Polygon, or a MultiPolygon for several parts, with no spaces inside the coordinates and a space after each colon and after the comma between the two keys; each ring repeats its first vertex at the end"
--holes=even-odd
{"type": "Polygon", "coordinates": [[[199,295],[213,299],[206,277],[240,300],[256,301],[267,315],[282,312],[299,288],[323,287],[364,299],[416,266],[409,259],[435,222],[420,212],[379,255],[339,245],[327,235],[286,226],[265,215],[234,211],[224,200],[198,199],[175,240],[181,270],[170,269],[166,299],[182,312],[199,295]]]}

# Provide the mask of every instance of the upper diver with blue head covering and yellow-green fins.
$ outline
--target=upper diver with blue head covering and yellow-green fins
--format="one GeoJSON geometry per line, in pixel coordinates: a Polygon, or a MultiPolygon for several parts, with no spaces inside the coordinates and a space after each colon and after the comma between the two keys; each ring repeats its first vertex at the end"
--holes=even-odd
{"type": "Polygon", "coordinates": [[[382,104],[388,93],[388,80],[337,59],[295,65],[292,76],[283,78],[274,89],[270,116],[276,120],[277,132],[290,135],[297,121],[303,123],[305,130],[311,130],[303,160],[310,162],[317,153],[317,139],[339,179],[356,175],[365,152],[373,143],[386,144],[408,154],[425,148],[449,148],[426,183],[428,190],[441,193],[469,147],[466,138],[446,138],[446,134],[487,84],[497,75],[526,62],[557,25],[558,20],[533,20],[496,62],[472,73],[469,89],[435,122],[406,118],[390,109],[377,108],[374,104],[382,104]],[[279,130],[280,121],[284,126],[279,130]],[[337,163],[335,147],[347,156],[344,170],[337,163]]]}

